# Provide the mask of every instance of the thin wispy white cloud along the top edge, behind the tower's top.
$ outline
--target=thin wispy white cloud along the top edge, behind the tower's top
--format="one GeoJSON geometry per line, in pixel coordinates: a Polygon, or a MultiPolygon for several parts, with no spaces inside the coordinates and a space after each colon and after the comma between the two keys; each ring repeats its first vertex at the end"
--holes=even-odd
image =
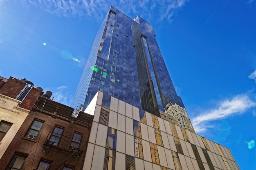
{"type": "MultiPolygon", "coordinates": [[[[0,0],[0,2],[7,0],[0,0]]],[[[102,20],[111,5],[132,17],[140,15],[154,21],[171,21],[173,14],[188,0],[22,0],[22,4],[38,7],[65,17],[92,16],[102,20]]]]}

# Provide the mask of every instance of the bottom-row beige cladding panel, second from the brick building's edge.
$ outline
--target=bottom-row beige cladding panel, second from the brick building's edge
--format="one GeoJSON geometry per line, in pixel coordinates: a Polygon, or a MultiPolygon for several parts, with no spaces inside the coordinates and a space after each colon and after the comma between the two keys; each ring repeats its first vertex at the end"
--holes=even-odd
{"type": "Polygon", "coordinates": [[[92,170],[103,170],[105,150],[106,148],[95,145],[92,159],[92,170]]]}

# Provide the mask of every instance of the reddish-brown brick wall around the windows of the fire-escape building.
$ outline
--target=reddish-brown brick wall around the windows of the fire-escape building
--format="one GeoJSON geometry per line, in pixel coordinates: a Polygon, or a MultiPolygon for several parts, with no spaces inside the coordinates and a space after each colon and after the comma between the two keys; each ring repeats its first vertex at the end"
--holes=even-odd
{"type": "MultiPolygon", "coordinates": [[[[29,154],[24,163],[24,166],[22,167],[22,170],[36,169],[41,158],[53,161],[50,169],[54,170],[63,161],[63,158],[68,156],[68,154],[64,156],[65,153],[61,151],[58,152],[57,150],[51,149],[49,152],[47,152],[47,155],[44,155],[43,144],[45,142],[45,139],[48,133],[50,131],[53,131],[55,125],[62,126],[63,128],[65,128],[63,135],[68,136],[69,133],[67,133],[67,129],[68,129],[67,127],[69,126],[69,124],[71,124],[71,122],[60,120],[57,118],[52,118],[51,116],[45,115],[40,112],[31,111],[29,116],[26,118],[25,122],[20,127],[13,141],[7,148],[7,151],[2,156],[2,159],[0,159],[0,165],[1,165],[0,169],[6,168],[15,151],[18,151],[21,153],[29,154]],[[42,129],[38,134],[36,141],[32,142],[27,139],[24,139],[24,136],[27,132],[27,129],[29,129],[31,122],[34,120],[34,118],[44,120],[45,123],[43,124],[42,129]]],[[[70,137],[73,137],[74,131],[83,133],[82,141],[85,141],[85,142],[88,141],[90,130],[88,130],[83,126],[74,124],[72,133],[69,135],[70,137]]],[[[75,170],[81,170],[84,159],[85,159],[85,153],[81,155],[79,159],[77,159],[77,157],[70,158],[68,161],[65,162],[65,165],[74,166],[75,170]]],[[[63,169],[63,166],[61,166],[60,170],[61,169],[63,169]]]]}

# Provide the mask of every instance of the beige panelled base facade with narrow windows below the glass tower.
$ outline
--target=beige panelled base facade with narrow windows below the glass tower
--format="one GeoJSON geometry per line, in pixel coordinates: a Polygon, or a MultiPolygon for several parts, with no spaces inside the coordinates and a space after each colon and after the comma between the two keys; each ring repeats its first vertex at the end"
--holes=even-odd
{"type": "Polygon", "coordinates": [[[96,105],[110,113],[114,113],[111,108],[115,108],[115,116],[111,113],[108,119],[113,120],[103,124],[101,123],[103,113],[94,113],[88,146],[95,145],[97,149],[90,148],[90,153],[88,152],[86,157],[92,161],[85,160],[87,164],[84,166],[92,167],[91,169],[100,167],[100,170],[229,170],[231,167],[232,170],[239,170],[229,150],[224,146],[177,126],[173,122],[167,122],[141,109],[130,107],[113,97],[111,101],[114,102],[110,103],[109,107],[97,105],[97,103],[103,105],[102,98],[104,99],[107,95],[102,92],[98,92],[97,95],[99,94],[103,97],[94,100],[95,102],[91,102],[90,105],[96,105]],[[117,129],[113,128],[116,127],[114,124],[117,124],[117,129]],[[97,126],[99,128],[96,128],[97,126]],[[112,153],[113,156],[105,154],[103,160],[102,156],[97,155],[99,152],[112,153]],[[96,163],[94,160],[97,159],[100,161],[96,163]],[[103,165],[98,165],[99,163],[103,165]]]}

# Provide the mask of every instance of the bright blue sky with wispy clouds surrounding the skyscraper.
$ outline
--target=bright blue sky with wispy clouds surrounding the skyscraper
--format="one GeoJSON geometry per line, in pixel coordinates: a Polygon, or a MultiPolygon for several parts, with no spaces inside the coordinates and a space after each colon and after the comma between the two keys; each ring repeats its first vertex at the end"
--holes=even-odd
{"type": "Polygon", "coordinates": [[[254,0],[0,0],[0,76],[27,78],[70,105],[111,4],[153,25],[196,132],[255,170],[254,0]]]}

